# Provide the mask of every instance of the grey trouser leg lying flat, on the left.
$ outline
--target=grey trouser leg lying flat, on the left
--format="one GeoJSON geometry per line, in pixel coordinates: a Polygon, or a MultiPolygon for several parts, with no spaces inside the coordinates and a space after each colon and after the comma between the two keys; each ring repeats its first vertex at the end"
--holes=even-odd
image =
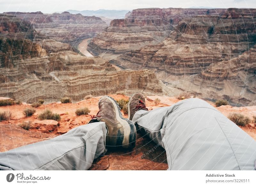
{"type": "Polygon", "coordinates": [[[106,152],[104,122],[90,123],[38,143],[0,153],[0,170],[87,170],[106,152]]]}

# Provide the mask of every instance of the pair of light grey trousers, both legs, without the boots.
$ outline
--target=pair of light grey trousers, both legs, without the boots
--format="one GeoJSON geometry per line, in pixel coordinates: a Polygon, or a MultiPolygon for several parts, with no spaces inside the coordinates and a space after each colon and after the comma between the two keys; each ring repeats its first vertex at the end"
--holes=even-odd
{"type": "MultiPolygon", "coordinates": [[[[256,141],[207,102],[140,110],[133,122],[162,146],[168,170],[255,170],[256,141]]],[[[1,170],[87,170],[106,153],[104,122],[0,153],[1,170]]]]}

